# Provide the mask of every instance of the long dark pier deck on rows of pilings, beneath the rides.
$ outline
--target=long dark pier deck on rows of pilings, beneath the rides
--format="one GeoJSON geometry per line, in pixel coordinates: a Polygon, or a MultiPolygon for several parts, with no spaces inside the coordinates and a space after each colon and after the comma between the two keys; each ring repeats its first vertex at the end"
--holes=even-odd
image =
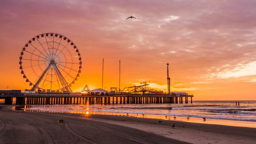
{"type": "Polygon", "coordinates": [[[21,93],[20,95],[0,95],[5,99],[4,104],[12,104],[16,98],[16,105],[87,105],[87,104],[162,104],[162,103],[188,103],[188,98],[194,95],[140,95],[140,94],[119,94],[119,95],[89,95],[87,93],[21,93]]]}

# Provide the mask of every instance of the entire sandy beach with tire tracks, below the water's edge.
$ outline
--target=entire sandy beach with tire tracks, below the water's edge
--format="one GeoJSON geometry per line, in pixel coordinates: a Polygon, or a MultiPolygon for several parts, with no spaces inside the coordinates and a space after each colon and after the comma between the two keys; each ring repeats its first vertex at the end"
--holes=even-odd
{"type": "Polygon", "coordinates": [[[16,111],[0,105],[0,143],[254,143],[256,128],[131,116],[16,111]],[[59,123],[64,120],[64,123],[59,123]],[[172,125],[175,127],[172,128],[172,125]]]}

